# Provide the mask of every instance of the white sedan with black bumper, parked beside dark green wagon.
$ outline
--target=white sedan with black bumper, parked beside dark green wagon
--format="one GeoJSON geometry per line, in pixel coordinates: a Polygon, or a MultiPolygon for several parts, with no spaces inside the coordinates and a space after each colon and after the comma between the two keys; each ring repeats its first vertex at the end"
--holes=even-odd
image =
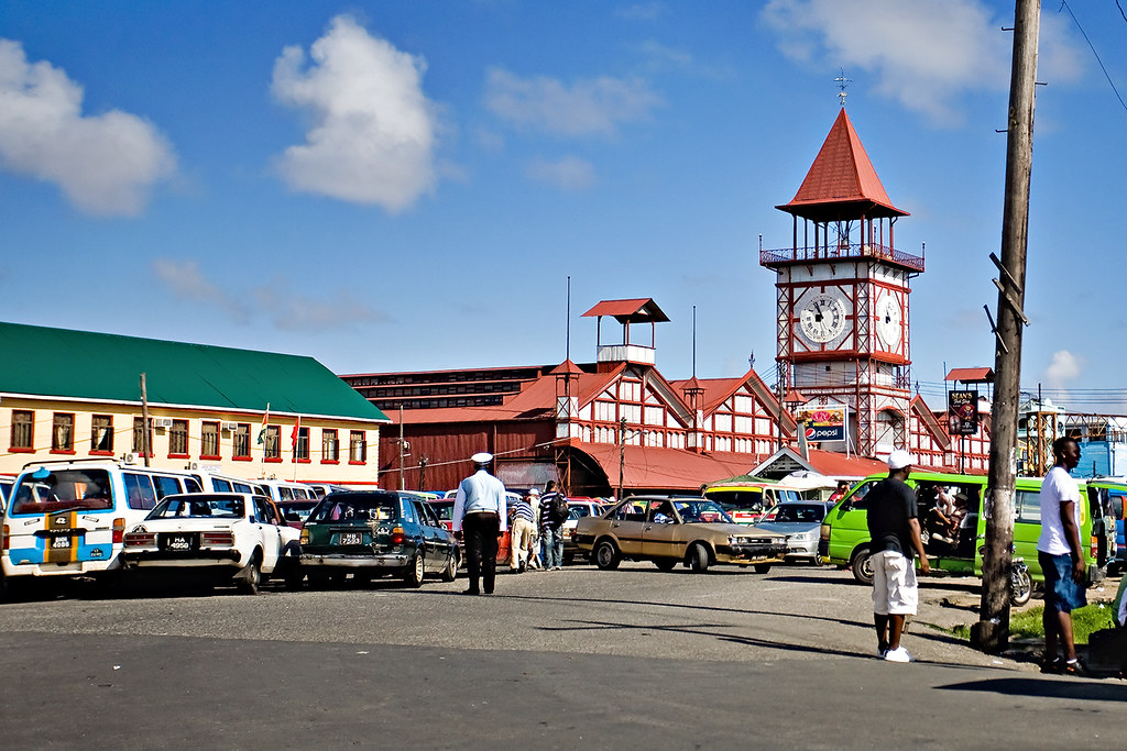
{"type": "Polygon", "coordinates": [[[167,495],[125,533],[122,563],[172,579],[233,580],[241,592],[257,594],[264,576],[301,582],[298,539],[264,495],[167,495]]]}

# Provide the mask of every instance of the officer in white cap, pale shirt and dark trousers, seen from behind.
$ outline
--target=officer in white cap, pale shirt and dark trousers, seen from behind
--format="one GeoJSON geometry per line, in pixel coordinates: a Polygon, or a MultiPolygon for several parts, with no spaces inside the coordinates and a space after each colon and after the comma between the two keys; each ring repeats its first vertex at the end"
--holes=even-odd
{"type": "Polygon", "coordinates": [[[454,498],[454,536],[465,540],[465,567],[470,574],[467,594],[492,594],[497,578],[498,538],[508,528],[505,484],[488,472],[492,454],[470,457],[476,472],[458,486],[454,498]]]}

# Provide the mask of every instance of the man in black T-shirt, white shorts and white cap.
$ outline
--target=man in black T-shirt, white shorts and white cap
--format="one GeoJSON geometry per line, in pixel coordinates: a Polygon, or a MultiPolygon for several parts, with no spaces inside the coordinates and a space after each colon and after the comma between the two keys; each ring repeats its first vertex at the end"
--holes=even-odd
{"type": "Polygon", "coordinates": [[[913,554],[920,556],[920,571],[931,572],[920,538],[915,492],[905,482],[912,463],[912,455],[902,448],[889,454],[888,477],[873,485],[867,498],[877,653],[889,662],[912,661],[900,646],[900,635],[904,618],[914,616],[920,602],[913,554]]]}

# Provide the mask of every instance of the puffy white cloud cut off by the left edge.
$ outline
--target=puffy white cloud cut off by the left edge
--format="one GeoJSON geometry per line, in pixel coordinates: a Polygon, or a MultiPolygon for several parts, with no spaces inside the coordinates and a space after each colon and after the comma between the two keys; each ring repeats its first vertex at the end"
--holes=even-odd
{"type": "Polygon", "coordinates": [[[0,39],[0,168],[56,184],[89,214],[140,214],[176,171],[172,147],[136,115],[82,115],[82,96],[65,71],[0,39]]]}

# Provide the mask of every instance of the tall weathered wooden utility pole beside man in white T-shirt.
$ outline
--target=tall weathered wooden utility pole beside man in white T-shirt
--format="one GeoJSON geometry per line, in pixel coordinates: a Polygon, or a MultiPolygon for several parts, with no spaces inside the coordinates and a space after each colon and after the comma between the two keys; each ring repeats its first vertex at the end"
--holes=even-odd
{"type": "MultiPolygon", "coordinates": [[[[995,329],[994,405],[991,415],[990,489],[983,594],[971,643],[996,654],[1010,641],[1010,566],[1013,557],[1013,489],[1018,472],[1018,408],[1021,397],[1021,333],[1026,294],[1026,245],[1029,234],[1029,177],[1033,157],[1033,89],[1037,84],[1037,36],[1040,0],[1017,0],[1013,24],[1013,71],[1005,152],[1005,208],[999,268],[995,329]]],[[[988,312],[988,311],[987,311],[988,312]]]]}

